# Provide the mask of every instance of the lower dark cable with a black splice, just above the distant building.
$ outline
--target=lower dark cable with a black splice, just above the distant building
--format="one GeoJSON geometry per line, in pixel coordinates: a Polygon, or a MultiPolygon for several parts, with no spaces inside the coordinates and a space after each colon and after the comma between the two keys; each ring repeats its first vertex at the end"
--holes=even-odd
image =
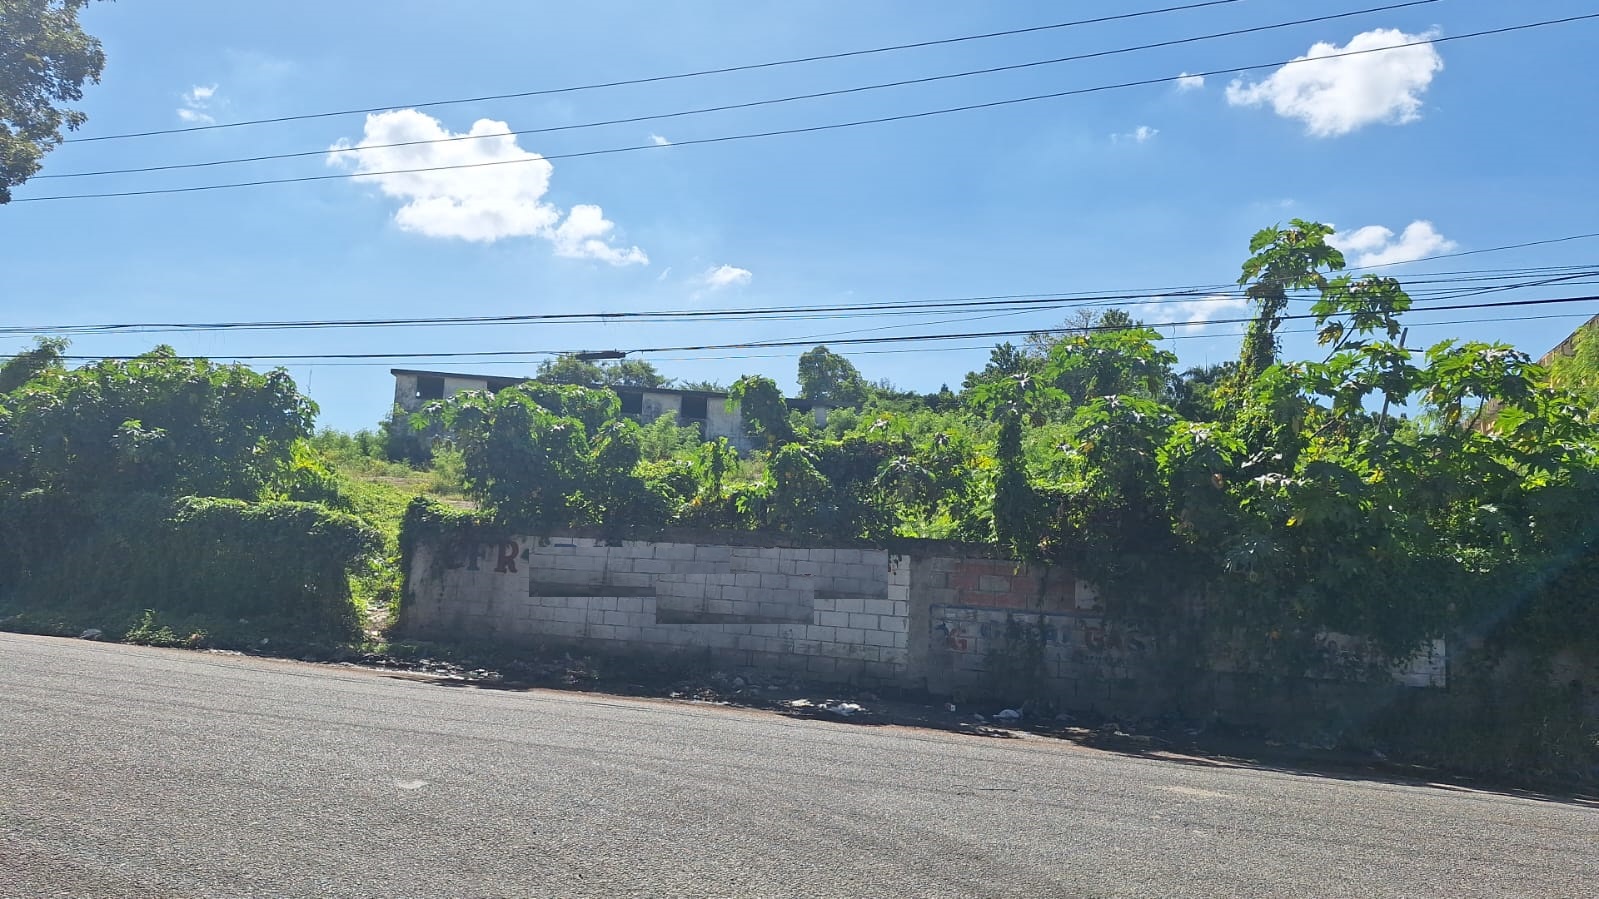
{"type": "MultiPolygon", "coordinates": [[[[1495,302],[1465,302],[1465,304],[1445,304],[1445,306],[1426,306],[1412,307],[1412,314],[1426,312],[1452,312],[1463,309],[1522,309],[1522,307],[1543,307],[1569,302],[1599,302],[1599,294],[1586,296],[1564,296],[1564,298],[1546,298],[1546,299],[1505,299],[1495,302]]],[[[1318,318],[1314,314],[1294,314],[1281,315],[1281,322],[1297,322],[1297,320],[1313,320],[1318,318]]],[[[1514,317],[1500,318],[1501,322],[1514,320],[1514,317]]],[[[1204,325],[1247,325],[1254,322],[1254,317],[1242,318],[1214,318],[1204,325]]],[[[1182,322],[1169,325],[1183,325],[1182,322]]],[[[1124,331],[1126,328],[1111,325],[1089,325],[1089,326],[1067,326],[1067,328],[1023,328],[1023,330],[1004,330],[1004,331],[963,331],[963,333],[945,333],[945,334],[897,334],[886,338],[846,338],[841,341],[830,341],[835,346],[878,346],[878,344],[908,344],[908,342],[931,342],[931,341],[961,341],[961,339],[995,339],[995,338],[1022,338],[1028,334],[1063,334],[1063,333],[1089,333],[1089,331],[1124,331]]],[[[812,341],[747,341],[740,344],[700,344],[700,346],[680,346],[680,347],[638,347],[625,350],[627,355],[654,355],[667,352],[713,352],[713,350],[742,350],[742,349],[784,349],[784,347],[806,347],[812,346],[812,341]]],[[[249,360],[249,362],[309,362],[309,360],[363,360],[363,358],[384,358],[384,360],[416,360],[416,358],[470,358],[470,357],[548,357],[548,355],[564,355],[563,350],[477,350],[477,352],[413,352],[413,354],[261,354],[261,355],[230,355],[227,358],[233,360],[249,360]]],[[[64,357],[77,358],[77,357],[64,357]]],[[[104,357],[101,357],[104,358],[104,357]]],[[[206,357],[176,357],[182,360],[201,360],[206,357]]]]}

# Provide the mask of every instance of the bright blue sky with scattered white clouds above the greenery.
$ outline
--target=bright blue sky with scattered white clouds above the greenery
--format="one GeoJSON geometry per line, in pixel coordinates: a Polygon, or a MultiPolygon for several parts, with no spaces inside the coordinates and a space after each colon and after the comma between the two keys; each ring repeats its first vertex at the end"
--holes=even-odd
{"type": "MultiPolygon", "coordinates": [[[[91,138],[393,104],[342,115],[141,139],[72,142],[43,174],[328,150],[294,160],[37,179],[18,200],[101,190],[457,165],[675,146],[408,176],[0,208],[6,325],[516,315],[859,304],[1068,291],[1153,291],[1236,278],[1249,237],[1290,218],[1338,226],[1351,262],[1599,232],[1591,115],[1599,21],[1210,75],[1313,45],[1362,48],[1596,11],[1591,2],[1439,0],[1183,46],[713,115],[406,149],[365,144],[552,128],[918,78],[1383,6],[1246,0],[1206,10],[627,88],[411,109],[836,53],[1180,5],[385,2],[96,3],[102,83],[91,138]],[[1351,43],[1353,42],[1353,43],[1351,43]],[[1554,64],[1557,62],[1557,64],[1554,64]],[[988,102],[1130,80],[1159,85],[977,112],[710,146],[683,141],[988,102]],[[1364,229],[1364,230],[1362,230],[1364,229]],[[1388,229],[1386,232],[1378,229],[1388,229]]],[[[1321,53],[1326,53],[1324,48],[1321,53]]],[[[1383,269],[1580,266],[1573,240],[1383,269]]],[[[1482,299],[1578,296],[1541,286],[1482,299]]],[[[811,336],[1049,326],[1068,309],[899,318],[368,328],[80,336],[74,352],[419,354],[638,349],[811,336]]],[[[1135,307],[1185,365],[1236,354],[1236,302],[1135,307]]],[[[1599,304],[1532,314],[1581,317],[1599,304]]],[[[1415,315],[1415,344],[1501,339],[1538,355],[1580,318],[1430,326],[1529,310],[1415,315]]],[[[836,339],[836,338],[831,338],[836,339]]],[[[0,339],[0,352],[26,346],[0,339]]],[[[991,342],[991,341],[990,341],[991,342]]],[[[987,349],[860,352],[867,378],[935,390],[987,349]]],[[[883,349],[883,347],[870,347],[883,349]]],[[[1314,350],[1303,336],[1290,355],[1314,350]]],[[[668,374],[795,384],[795,350],[644,355],[668,374]],[[726,358],[744,357],[744,358],[726,358]]],[[[531,373],[473,360],[289,365],[325,426],[385,414],[392,365],[531,373]]]]}

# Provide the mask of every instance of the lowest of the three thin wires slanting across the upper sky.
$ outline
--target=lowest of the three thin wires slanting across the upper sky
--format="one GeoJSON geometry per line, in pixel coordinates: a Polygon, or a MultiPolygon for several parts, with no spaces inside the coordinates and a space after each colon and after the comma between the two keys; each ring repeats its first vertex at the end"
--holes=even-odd
{"type": "MultiPolygon", "coordinates": [[[[1426,40],[1415,40],[1415,42],[1396,43],[1393,46],[1374,46],[1374,48],[1367,48],[1367,50],[1348,50],[1348,51],[1343,51],[1343,53],[1330,53],[1327,56],[1279,59],[1276,62],[1258,62],[1258,64],[1252,64],[1252,66],[1234,66],[1234,67],[1226,67],[1226,69],[1212,69],[1209,72],[1193,72],[1191,75],[1193,77],[1212,77],[1212,75],[1230,75],[1230,74],[1236,74],[1236,72],[1254,72],[1254,70],[1260,70],[1260,69],[1281,69],[1284,66],[1297,66],[1297,64],[1302,64],[1302,62],[1324,62],[1324,61],[1329,61],[1329,59],[1343,59],[1343,58],[1350,58],[1350,56],[1366,56],[1366,54],[1370,54],[1370,53],[1388,53],[1388,51],[1393,51],[1393,50],[1404,50],[1407,46],[1423,46],[1423,45],[1449,43],[1449,42],[1458,42],[1458,40],[1471,40],[1471,38],[1479,38],[1479,37],[1493,37],[1493,35],[1503,35],[1503,34],[1511,34],[1511,32],[1522,32],[1522,30],[1538,29],[1538,27],[1548,27],[1548,26],[1570,24],[1570,22],[1588,21],[1588,19],[1599,19],[1599,13],[1588,13],[1588,14],[1581,14],[1581,16],[1567,16],[1567,18],[1562,18],[1562,19],[1545,19],[1545,21],[1540,21],[1540,22],[1525,22],[1525,24],[1519,24],[1519,26],[1505,26],[1505,27],[1498,27],[1498,29],[1487,29],[1487,30],[1460,34],[1460,35],[1449,35],[1449,37],[1436,37],[1436,38],[1426,38],[1426,40]]],[[[1036,102],[1036,101],[1044,101],[1044,99],[1059,99],[1059,98],[1067,98],[1067,96],[1083,96],[1083,94],[1105,93],[1105,91],[1126,90],[1126,88],[1142,88],[1142,86],[1151,86],[1151,85],[1164,85],[1164,83],[1172,82],[1174,78],[1175,78],[1174,75],[1164,75],[1164,77],[1159,77],[1159,78],[1142,78],[1142,80],[1135,80],[1135,82],[1118,82],[1118,83],[1113,83],[1113,85],[1095,85],[1095,86],[1089,86],[1089,88],[1073,88],[1073,90],[1065,90],[1065,91],[1052,91],[1052,93],[1044,93],[1044,94],[1031,94],[1031,96],[1022,96],[1022,98],[1009,98],[1009,99],[998,99],[998,101],[988,101],[988,102],[975,102],[975,104],[966,104],[966,106],[951,106],[951,107],[931,109],[931,110],[921,110],[921,112],[905,112],[905,114],[883,115],[883,117],[875,117],[875,118],[857,118],[857,120],[852,120],[852,122],[833,122],[833,123],[827,123],[827,125],[809,125],[809,126],[803,126],[803,128],[779,128],[779,130],[772,130],[772,131],[750,131],[750,133],[744,133],[744,134],[723,134],[723,136],[718,136],[718,138],[696,138],[696,139],[688,139],[688,141],[676,141],[676,142],[672,142],[668,146],[670,147],[688,147],[688,146],[702,146],[702,144],[726,144],[726,142],[734,142],[734,141],[753,141],[753,139],[763,139],[763,138],[782,138],[782,136],[793,136],[793,134],[812,134],[812,133],[820,133],[820,131],[838,131],[838,130],[843,130],[843,128],[859,128],[859,126],[865,126],[865,125],[886,125],[886,123],[892,123],[892,122],[910,122],[910,120],[916,120],[916,118],[931,118],[931,117],[937,117],[937,115],[951,115],[951,114],[956,114],[956,112],[975,112],[975,110],[980,110],[980,109],[998,109],[998,107],[1017,106],[1017,104],[1023,104],[1023,102],[1036,102]]],[[[512,158],[512,160],[489,160],[489,162],[475,162],[475,163],[454,163],[454,165],[435,165],[435,166],[419,166],[419,168],[398,168],[398,170],[384,170],[384,171],[347,171],[347,173],[334,173],[334,174],[305,174],[305,176],[297,176],[297,178],[262,178],[262,179],[256,179],[256,181],[232,181],[232,182],[222,182],[222,184],[197,184],[197,186],[189,186],[189,187],[155,187],[155,189],[144,189],[144,190],[107,190],[107,192],[99,192],[99,194],[61,194],[61,195],[46,195],[46,197],[16,197],[11,202],[13,203],[43,203],[43,202],[54,202],[54,200],[104,200],[104,198],[120,198],[120,197],[152,197],[152,195],[166,195],[166,194],[198,194],[198,192],[209,192],[209,190],[233,190],[233,189],[241,189],[241,187],[262,187],[262,186],[270,186],[270,184],[309,184],[309,182],[317,182],[317,181],[344,181],[344,179],[352,179],[352,178],[374,178],[374,176],[384,176],[384,174],[424,174],[424,173],[433,173],[433,171],[457,171],[457,170],[469,170],[469,168],[489,168],[489,166],[502,166],[502,165],[523,165],[523,163],[539,162],[539,160],[585,158],[585,157],[632,154],[632,152],[659,150],[659,149],[664,149],[664,147],[659,147],[659,146],[654,146],[654,144],[643,144],[643,146],[608,147],[608,149],[600,149],[600,150],[579,150],[579,152],[569,152],[569,154],[548,154],[548,155],[531,154],[531,155],[528,155],[524,158],[512,158]]]]}

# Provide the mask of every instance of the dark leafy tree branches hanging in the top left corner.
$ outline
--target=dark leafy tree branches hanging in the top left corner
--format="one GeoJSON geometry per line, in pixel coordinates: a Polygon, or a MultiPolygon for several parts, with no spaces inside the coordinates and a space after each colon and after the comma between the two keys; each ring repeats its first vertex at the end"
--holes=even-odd
{"type": "Polygon", "coordinates": [[[101,42],[83,32],[78,10],[88,0],[0,0],[0,203],[32,178],[61,144],[62,128],[88,118],[61,104],[83,99],[83,83],[99,83],[101,42]]]}

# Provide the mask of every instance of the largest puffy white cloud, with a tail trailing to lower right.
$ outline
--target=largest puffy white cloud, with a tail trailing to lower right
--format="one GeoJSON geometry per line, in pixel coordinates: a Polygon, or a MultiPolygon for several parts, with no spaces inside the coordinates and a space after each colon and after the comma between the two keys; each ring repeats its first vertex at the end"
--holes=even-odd
{"type": "Polygon", "coordinates": [[[379,112],[366,117],[358,144],[341,139],[329,147],[328,163],[352,168],[361,173],[358,181],[405,200],[395,211],[395,224],[409,232],[481,243],[537,237],[548,240],[556,256],[611,266],[649,262],[638,246],[611,243],[616,222],[600,206],[579,203],[563,216],[547,203],[555,166],[516,146],[508,125],[480,118],[465,136],[473,139],[451,139],[462,134],[414,109],[379,112]]]}

